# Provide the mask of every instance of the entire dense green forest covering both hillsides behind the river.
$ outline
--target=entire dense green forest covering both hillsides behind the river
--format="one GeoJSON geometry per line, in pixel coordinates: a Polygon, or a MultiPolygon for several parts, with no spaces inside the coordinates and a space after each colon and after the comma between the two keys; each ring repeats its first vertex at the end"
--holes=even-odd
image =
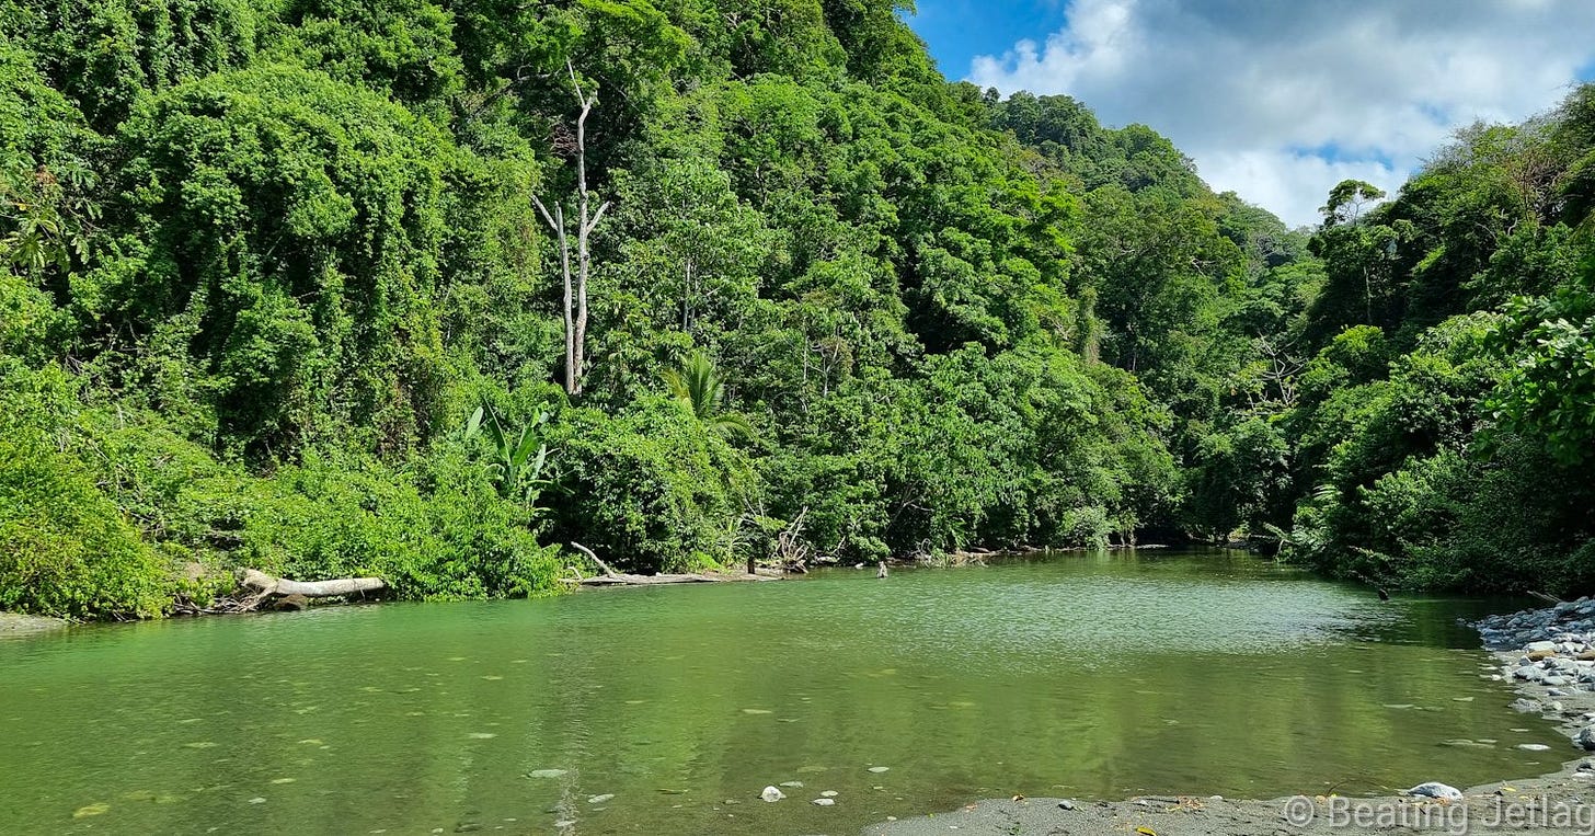
{"type": "Polygon", "coordinates": [[[0,0],[0,609],[571,541],[1595,587],[1590,88],[1289,230],[903,10],[0,0]]]}

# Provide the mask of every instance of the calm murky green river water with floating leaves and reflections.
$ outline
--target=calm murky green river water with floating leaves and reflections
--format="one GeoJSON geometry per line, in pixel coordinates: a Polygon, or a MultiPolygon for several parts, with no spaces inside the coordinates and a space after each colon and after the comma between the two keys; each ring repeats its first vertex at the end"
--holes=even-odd
{"type": "Polygon", "coordinates": [[[0,833],[857,833],[1013,793],[1466,787],[1573,753],[1455,624],[1515,603],[1144,550],[83,627],[0,641],[0,833]]]}

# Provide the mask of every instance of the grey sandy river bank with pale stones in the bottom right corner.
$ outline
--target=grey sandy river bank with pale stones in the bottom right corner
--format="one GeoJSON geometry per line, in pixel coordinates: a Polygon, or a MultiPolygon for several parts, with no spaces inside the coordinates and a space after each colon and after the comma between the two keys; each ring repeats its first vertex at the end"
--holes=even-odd
{"type": "MultiPolygon", "coordinates": [[[[1227,799],[1220,796],[1139,796],[1126,801],[1064,798],[986,799],[959,810],[884,822],[864,836],[1255,836],[1333,833],[1595,833],[1595,600],[1560,603],[1491,616],[1472,624],[1507,683],[1507,702],[1557,723],[1568,739],[1560,771],[1461,790],[1459,801],[1410,798],[1290,796],[1227,799]]],[[[1458,743],[1469,743],[1461,742],[1458,743]]],[[[1525,743],[1536,745],[1536,743],[1525,743]]],[[[1445,782],[1436,764],[1424,782],[1445,782]]]]}

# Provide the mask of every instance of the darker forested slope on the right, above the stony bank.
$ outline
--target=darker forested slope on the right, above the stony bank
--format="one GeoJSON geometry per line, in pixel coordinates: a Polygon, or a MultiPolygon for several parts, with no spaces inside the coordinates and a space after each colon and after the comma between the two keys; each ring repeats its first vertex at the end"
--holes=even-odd
{"type": "Polygon", "coordinates": [[[1346,182],[1327,281],[1270,410],[1292,504],[1250,522],[1324,570],[1410,586],[1595,587],[1595,88],[1461,131],[1392,201],[1346,182]]]}

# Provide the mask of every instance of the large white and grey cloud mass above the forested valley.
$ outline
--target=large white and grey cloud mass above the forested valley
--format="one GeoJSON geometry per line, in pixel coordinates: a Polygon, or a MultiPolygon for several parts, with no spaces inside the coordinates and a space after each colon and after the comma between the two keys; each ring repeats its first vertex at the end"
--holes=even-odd
{"type": "Polygon", "coordinates": [[[1215,190],[1292,225],[1341,179],[1392,191],[1456,128],[1555,105],[1595,61],[1587,0],[1069,0],[1065,14],[968,78],[1145,123],[1215,190]]]}

